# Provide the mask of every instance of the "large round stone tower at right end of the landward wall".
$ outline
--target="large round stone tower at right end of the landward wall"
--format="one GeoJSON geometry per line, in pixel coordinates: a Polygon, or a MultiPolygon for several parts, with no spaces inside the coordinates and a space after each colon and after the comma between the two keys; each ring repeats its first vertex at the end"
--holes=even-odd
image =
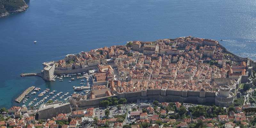
{"type": "Polygon", "coordinates": [[[220,88],[220,92],[215,93],[215,105],[219,107],[229,107],[234,103],[234,93],[230,92],[228,86],[220,88]]]}

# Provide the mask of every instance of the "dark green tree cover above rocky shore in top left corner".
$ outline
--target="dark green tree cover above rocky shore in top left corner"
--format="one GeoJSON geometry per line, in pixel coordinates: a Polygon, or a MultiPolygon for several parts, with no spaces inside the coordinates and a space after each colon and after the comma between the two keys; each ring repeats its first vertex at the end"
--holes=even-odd
{"type": "Polygon", "coordinates": [[[0,13],[13,11],[24,5],[23,0],[0,0],[0,13]]]}

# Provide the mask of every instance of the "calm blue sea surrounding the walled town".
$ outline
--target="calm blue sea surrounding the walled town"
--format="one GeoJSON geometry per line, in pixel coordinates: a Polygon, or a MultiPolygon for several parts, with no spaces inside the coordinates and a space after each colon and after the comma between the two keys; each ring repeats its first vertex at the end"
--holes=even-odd
{"type": "Polygon", "coordinates": [[[30,86],[71,94],[73,86],[81,83],[69,83],[70,77],[45,82],[38,76],[20,77],[21,73],[40,72],[43,62],[60,60],[67,54],[131,40],[189,35],[223,39],[220,44],[229,51],[256,60],[254,0],[25,1],[27,11],[0,18],[0,108],[22,106],[14,99],[30,86]]]}

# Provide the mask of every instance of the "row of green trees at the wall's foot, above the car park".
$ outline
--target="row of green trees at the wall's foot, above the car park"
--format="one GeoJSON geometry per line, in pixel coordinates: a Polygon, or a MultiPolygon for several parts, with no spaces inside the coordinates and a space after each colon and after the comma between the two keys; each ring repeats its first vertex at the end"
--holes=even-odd
{"type": "Polygon", "coordinates": [[[100,101],[100,106],[101,107],[107,107],[107,106],[112,106],[112,105],[117,105],[117,104],[126,104],[127,100],[125,98],[120,98],[119,100],[117,98],[107,98],[107,100],[102,100],[100,101]]]}

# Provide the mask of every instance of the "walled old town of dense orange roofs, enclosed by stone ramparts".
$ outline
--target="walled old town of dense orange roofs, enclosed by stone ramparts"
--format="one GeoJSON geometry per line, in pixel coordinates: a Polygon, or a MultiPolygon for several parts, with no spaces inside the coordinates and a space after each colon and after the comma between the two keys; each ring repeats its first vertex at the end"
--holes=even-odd
{"type": "Polygon", "coordinates": [[[241,84],[252,87],[256,61],[229,52],[216,40],[186,36],[68,54],[43,66],[40,74],[47,81],[55,81],[56,75],[90,74],[92,91],[69,99],[76,110],[96,107],[108,97],[229,107],[241,98],[241,84]]]}

